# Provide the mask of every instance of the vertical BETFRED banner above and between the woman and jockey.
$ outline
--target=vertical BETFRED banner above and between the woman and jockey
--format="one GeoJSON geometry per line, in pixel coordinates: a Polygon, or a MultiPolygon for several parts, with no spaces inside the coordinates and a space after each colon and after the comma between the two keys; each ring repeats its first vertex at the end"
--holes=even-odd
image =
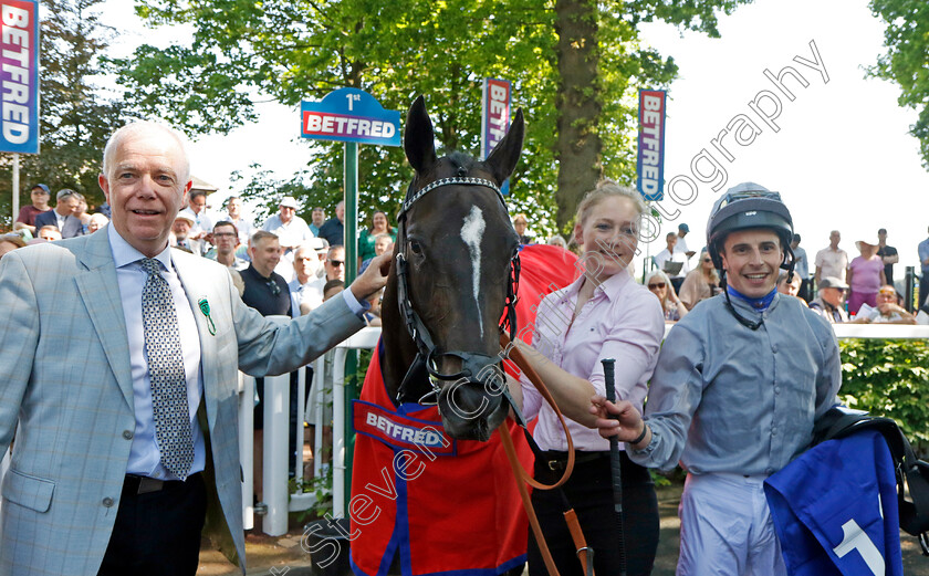
{"type": "Polygon", "coordinates": [[[639,193],[646,200],[665,197],[665,105],[664,90],[639,91],[638,160],[639,193]]]}

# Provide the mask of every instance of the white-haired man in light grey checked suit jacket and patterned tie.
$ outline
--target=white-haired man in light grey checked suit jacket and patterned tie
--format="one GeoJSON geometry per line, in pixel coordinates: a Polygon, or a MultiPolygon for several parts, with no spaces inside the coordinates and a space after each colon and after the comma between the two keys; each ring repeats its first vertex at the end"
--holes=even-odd
{"type": "Polygon", "coordinates": [[[312,314],[268,322],[242,304],[225,266],[168,248],[191,186],[174,132],[117,130],[100,184],[107,228],[0,262],[0,453],[15,431],[0,575],[192,575],[205,516],[244,572],[237,370],[290,371],[364,326],[359,302],[386,283],[389,261],[312,314]],[[153,409],[164,406],[155,383],[165,376],[161,357],[146,356],[158,328],[143,322],[152,299],[142,294],[156,277],[182,353],[173,399],[186,385],[190,431],[180,472],[159,448],[164,416],[153,409]]]}

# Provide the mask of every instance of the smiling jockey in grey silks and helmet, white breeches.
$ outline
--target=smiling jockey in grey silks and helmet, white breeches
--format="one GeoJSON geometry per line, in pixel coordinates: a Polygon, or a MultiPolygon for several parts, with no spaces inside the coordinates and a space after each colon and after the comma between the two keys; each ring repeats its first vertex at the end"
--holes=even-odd
{"type": "Polygon", "coordinates": [[[710,256],[726,292],[670,331],[643,419],[594,399],[603,436],[641,465],[687,470],[677,574],[784,575],[763,482],[806,449],[842,383],[829,324],[776,291],[793,269],[793,221],[781,196],[745,182],[713,206],[710,256]]]}

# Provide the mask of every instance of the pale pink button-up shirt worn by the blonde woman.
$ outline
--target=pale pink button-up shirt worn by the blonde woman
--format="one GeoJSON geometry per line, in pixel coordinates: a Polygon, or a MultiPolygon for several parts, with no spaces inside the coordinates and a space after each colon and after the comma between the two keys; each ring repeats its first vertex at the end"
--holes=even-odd
{"type": "MultiPolygon", "coordinates": [[[[665,335],[661,303],[629,274],[620,272],[602,283],[577,313],[574,308],[585,276],[549,294],[539,305],[532,346],[557,366],[587,379],[604,395],[604,358],[616,359],[616,398],[629,400],[641,411],[648,380],[655,370],[665,335]]],[[[523,413],[539,416],[535,440],[542,450],[567,450],[554,410],[525,376],[521,378],[523,413]]],[[[584,451],[609,450],[609,441],[595,429],[567,419],[574,447],[584,451]]],[[[620,442],[620,448],[623,443],[620,442]]]]}

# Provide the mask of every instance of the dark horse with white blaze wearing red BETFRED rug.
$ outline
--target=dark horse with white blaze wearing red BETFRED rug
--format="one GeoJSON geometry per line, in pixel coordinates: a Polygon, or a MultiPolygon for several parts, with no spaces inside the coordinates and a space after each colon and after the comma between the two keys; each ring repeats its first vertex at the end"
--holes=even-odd
{"type": "Polygon", "coordinates": [[[500,321],[515,327],[520,250],[500,186],[523,134],[516,111],[486,160],[439,158],[422,96],[409,108],[404,148],[415,176],[398,216],[382,342],[353,407],[356,574],[522,570],[526,521],[493,432],[510,410],[500,321]]]}

